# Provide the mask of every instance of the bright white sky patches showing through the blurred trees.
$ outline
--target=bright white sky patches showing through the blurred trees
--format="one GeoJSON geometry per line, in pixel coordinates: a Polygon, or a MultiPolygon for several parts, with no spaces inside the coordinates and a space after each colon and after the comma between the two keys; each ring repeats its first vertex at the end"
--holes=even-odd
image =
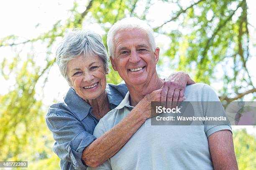
{"type": "MultiPolygon", "coordinates": [[[[162,1],[155,0],[156,3],[150,8],[149,14],[147,16],[148,20],[154,20],[154,23],[150,23],[151,26],[157,26],[169,19],[169,16],[172,15],[173,9],[172,5],[168,5],[162,1]],[[159,10],[160,9],[160,10],[159,10]],[[172,10],[170,10],[172,9],[172,10]]],[[[79,4],[87,4],[87,1],[77,0],[79,4]]],[[[188,6],[189,0],[181,1],[184,6],[188,6]]],[[[143,5],[143,3],[141,4],[143,5]]],[[[73,7],[73,1],[67,0],[5,0],[0,1],[0,23],[1,31],[0,38],[8,35],[18,35],[23,37],[24,40],[37,37],[42,32],[46,32],[52,28],[52,25],[57,20],[65,20],[69,13],[67,10],[73,7]]],[[[79,12],[83,12],[84,7],[78,8],[79,12]]],[[[140,11],[136,11],[140,13],[140,11]]],[[[248,20],[249,22],[256,27],[256,1],[248,0],[248,20]]],[[[92,25],[89,25],[92,26],[92,25]]],[[[94,30],[95,30],[95,25],[94,30]]],[[[175,25],[173,25],[175,26],[175,25]]],[[[102,30],[96,25],[96,30],[98,33],[102,34],[102,30]]],[[[251,35],[256,35],[256,30],[250,30],[251,35]]],[[[162,48],[166,49],[168,46],[163,43],[166,42],[165,37],[157,37],[157,44],[162,48]]],[[[251,38],[254,44],[256,44],[256,36],[251,38]]],[[[25,50],[24,56],[26,57],[26,52],[30,49],[25,50]]],[[[44,57],[44,52],[42,49],[37,48],[37,55],[44,57]]],[[[54,50],[54,49],[53,49],[54,50]]],[[[254,55],[251,62],[248,63],[248,68],[250,72],[256,72],[255,63],[256,63],[256,48],[253,48],[254,51],[251,53],[254,55]]],[[[13,56],[10,48],[0,48],[0,59],[2,56],[13,56]]],[[[2,59],[1,59],[2,60],[2,59]]],[[[169,70],[164,70],[166,74],[169,70]]],[[[169,74],[169,73],[168,73],[169,74]]],[[[167,74],[167,75],[168,75],[167,74]]],[[[163,76],[166,76],[163,74],[163,76]]],[[[254,75],[255,76],[255,75],[254,75]]],[[[10,79],[6,81],[0,75],[0,94],[6,94],[10,85],[14,84],[15,81],[10,79]]],[[[214,85],[215,86],[215,85],[214,85]]],[[[215,86],[218,87],[218,86],[215,86]]],[[[61,100],[64,94],[67,92],[68,85],[63,77],[59,74],[59,70],[56,65],[51,68],[48,82],[44,88],[44,100],[46,105],[50,105],[53,100],[61,100]]],[[[217,90],[217,89],[215,89],[217,90]]],[[[38,93],[38,97],[43,97],[41,93],[38,93]]],[[[249,128],[248,128],[249,129],[249,128]]]]}

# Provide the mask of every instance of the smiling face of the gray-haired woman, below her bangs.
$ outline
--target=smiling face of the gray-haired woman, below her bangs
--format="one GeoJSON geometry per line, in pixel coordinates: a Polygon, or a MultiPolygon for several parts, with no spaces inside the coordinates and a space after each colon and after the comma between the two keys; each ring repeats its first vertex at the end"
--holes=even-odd
{"type": "Polygon", "coordinates": [[[106,72],[103,61],[97,55],[87,54],[70,60],[67,74],[77,94],[84,100],[92,100],[105,93],[106,72]]]}

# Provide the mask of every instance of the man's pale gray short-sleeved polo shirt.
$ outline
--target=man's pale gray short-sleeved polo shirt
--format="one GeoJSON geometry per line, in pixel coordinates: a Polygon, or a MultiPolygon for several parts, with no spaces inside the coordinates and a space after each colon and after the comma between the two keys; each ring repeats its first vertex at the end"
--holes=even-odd
{"type": "MultiPolygon", "coordinates": [[[[185,101],[219,101],[209,85],[188,85],[185,101]]],[[[207,105],[195,108],[205,115],[207,105]]],[[[93,135],[102,134],[118,124],[133,107],[129,92],[123,101],[97,124],[93,135]]],[[[225,112],[223,112],[225,114],[225,112]]],[[[148,119],[132,138],[112,158],[98,168],[87,170],[213,170],[207,138],[219,130],[230,130],[229,125],[151,125],[148,119]]]]}

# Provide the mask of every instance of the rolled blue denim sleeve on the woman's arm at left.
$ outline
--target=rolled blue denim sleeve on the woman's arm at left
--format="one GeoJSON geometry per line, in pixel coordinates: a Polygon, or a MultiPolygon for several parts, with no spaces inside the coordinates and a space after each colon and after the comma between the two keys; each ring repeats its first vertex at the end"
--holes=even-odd
{"type": "Polygon", "coordinates": [[[54,153],[61,160],[71,162],[74,169],[86,169],[87,166],[82,162],[82,152],[96,137],[85,131],[82,123],[66,110],[48,112],[46,124],[56,141],[54,153]]]}

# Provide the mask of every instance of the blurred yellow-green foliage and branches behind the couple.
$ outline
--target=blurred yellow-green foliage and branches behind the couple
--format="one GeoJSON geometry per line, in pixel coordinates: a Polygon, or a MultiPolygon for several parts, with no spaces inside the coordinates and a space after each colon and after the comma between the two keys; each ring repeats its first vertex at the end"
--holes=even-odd
{"type": "MultiPolygon", "coordinates": [[[[56,67],[56,44],[69,30],[86,29],[88,24],[100,26],[106,45],[106,34],[113,23],[127,16],[145,19],[154,28],[161,47],[160,76],[169,75],[166,70],[184,70],[195,81],[212,85],[220,100],[255,100],[255,69],[248,65],[256,61],[256,28],[247,17],[247,0],[74,1],[67,14],[65,20],[58,20],[51,29],[31,39],[17,35],[0,39],[0,50],[9,51],[0,53],[0,76],[12,79],[8,91],[0,95],[1,161],[28,160],[28,169],[59,169],[45,123],[49,105],[42,93],[49,71],[56,67]],[[170,11],[162,23],[148,17],[157,15],[158,10],[152,14],[151,7],[159,2],[172,7],[158,9],[170,11]],[[38,57],[39,47],[44,52],[38,57]]],[[[110,66],[108,82],[121,81],[110,66]]],[[[255,135],[234,130],[233,139],[239,168],[256,169],[255,135]]]]}

